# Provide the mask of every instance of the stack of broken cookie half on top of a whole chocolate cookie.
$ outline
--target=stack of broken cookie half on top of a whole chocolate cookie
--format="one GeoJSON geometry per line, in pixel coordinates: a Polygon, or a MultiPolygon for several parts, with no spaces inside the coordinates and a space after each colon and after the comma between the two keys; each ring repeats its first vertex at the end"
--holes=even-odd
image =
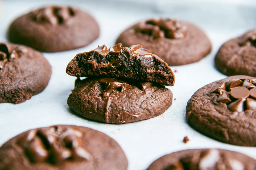
{"type": "Polygon", "coordinates": [[[106,123],[128,123],[150,119],[172,105],[174,85],[171,68],[141,45],[130,48],[119,43],[77,54],[66,73],[77,85],[67,104],[85,118],[106,123]]]}

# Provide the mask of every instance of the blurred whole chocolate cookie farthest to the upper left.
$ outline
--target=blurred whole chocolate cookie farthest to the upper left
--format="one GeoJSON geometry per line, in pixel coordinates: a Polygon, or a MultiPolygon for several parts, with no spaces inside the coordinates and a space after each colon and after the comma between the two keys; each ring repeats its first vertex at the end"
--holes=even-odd
{"type": "Polygon", "coordinates": [[[12,22],[9,40],[39,51],[72,50],[99,36],[97,22],[74,7],[49,6],[31,11],[12,22]]]}

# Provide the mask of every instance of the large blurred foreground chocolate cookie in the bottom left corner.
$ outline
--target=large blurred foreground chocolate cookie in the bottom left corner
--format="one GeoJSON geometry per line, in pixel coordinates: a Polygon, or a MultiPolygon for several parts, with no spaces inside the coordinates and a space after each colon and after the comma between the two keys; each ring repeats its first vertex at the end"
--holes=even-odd
{"type": "Polygon", "coordinates": [[[114,139],[82,126],[32,129],[0,148],[0,170],[126,170],[127,165],[114,139]]]}

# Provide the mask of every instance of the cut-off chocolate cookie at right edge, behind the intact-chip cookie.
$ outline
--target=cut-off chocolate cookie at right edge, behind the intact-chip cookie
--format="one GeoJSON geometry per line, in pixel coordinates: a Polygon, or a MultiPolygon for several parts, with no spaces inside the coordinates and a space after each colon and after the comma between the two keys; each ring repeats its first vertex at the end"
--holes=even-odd
{"type": "Polygon", "coordinates": [[[224,43],[215,57],[215,65],[228,76],[256,77],[256,30],[224,43]]]}

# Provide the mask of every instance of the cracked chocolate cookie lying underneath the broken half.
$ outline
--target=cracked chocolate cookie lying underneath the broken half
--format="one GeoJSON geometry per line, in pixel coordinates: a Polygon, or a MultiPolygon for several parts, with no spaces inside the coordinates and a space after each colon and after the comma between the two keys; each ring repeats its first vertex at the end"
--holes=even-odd
{"type": "Polygon", "coordinates": [[[172,105],[172,92],[162,85],[132,79],[86,78],[67,104],[85,118],[106,123],[129,123],[156,117],[172,105]]]}

